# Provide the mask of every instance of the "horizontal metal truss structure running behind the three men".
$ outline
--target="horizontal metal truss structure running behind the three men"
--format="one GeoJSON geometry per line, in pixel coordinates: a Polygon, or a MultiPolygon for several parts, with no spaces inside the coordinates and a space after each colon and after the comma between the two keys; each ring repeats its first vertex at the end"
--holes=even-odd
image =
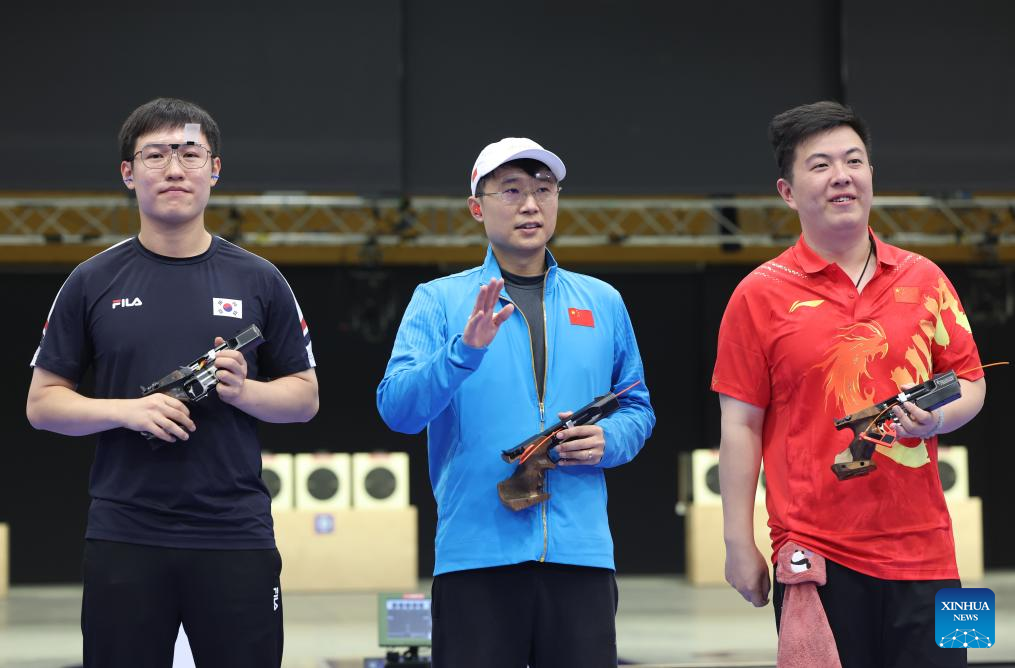
{"type": "MultiPolygon", "coordinates": [[[[137,231],[137,203],[116,196],[0,196],[0,261],[80,261],[137,231]]],[[[205,223],[274,261],[471,262],[485,247],[465,198],[213,196],[205,223]]],[[[872,227],[944,261],[1015,261],[1015,195],[877,197],[872,227]]],[[[570,262],[744,262],[800,233],[777,197],[563,198],[554,252],[570,262]]]]}

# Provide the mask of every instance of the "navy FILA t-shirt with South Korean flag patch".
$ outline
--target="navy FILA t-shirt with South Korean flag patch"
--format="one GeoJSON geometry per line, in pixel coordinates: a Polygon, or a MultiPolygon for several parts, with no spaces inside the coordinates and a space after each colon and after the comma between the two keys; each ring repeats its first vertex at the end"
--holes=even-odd
{"type": "MultiPolygon", "coordinates": [[[[141,386],[257,325],[264,343],[245,354],[248,378],[315,365],[292,290],[267,260],[218,237],[193,258],[151,253],[137,238],[81,263],[50,310],[32,365],[73,383],[90,368],[93,396],[133,399],[141,386]]],[[[189,441],[152,450],[125,428],[99,432],[91,468],[87,538],[208,549],[274,547],[261,481],[257,420],[212,391],[188,404],[189,441]]]]}

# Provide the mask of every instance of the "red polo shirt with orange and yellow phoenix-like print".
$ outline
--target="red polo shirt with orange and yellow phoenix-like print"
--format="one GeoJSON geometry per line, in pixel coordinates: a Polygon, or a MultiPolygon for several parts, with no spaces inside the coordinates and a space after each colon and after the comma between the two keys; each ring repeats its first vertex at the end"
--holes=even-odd
{"type": "Polygon", "coordinates": [[[866,476],[839,481],[831,471],[853,438],[834,419],[935,374],[984,375],[944,272],[871,236],[877,260],[862,293],[803,237],[744,278],[723,316],[712,389],[765,409],[774,553],[793,540],[875,578],[954,579],[936,438],[879,446],[866,476]]]}

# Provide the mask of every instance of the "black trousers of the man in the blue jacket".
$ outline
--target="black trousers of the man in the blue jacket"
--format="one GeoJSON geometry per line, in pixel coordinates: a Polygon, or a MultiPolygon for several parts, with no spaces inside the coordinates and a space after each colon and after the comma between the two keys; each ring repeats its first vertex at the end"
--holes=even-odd
{"type": "Polygon", "coordinates": [[[433,579],[434,668],[617,665],[608,569],[529,561],[433,579]]]}

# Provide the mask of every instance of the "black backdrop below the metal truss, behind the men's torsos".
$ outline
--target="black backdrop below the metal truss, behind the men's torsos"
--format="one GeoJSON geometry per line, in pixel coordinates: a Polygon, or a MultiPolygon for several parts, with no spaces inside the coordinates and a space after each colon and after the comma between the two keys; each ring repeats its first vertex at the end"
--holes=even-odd
{"type": "MultiPolygon", "coordinates": [[[[418,281],[453,268],[352,269],[282,267],[299,296],[314,337],[321,383],[321,413],[307,424],[262,428],[264,445],[278,452],[371,449],[410,453],[410,496],[419,508],[419,567],[433,565],[435,508],[426,470],[425,437],[394,433],[381,421],[375,391],[391,352],[402,311],[418,281]]],[[[972,319],[985,361],[1011,356],[1011,324],[992,316],[1005,298],[1001,267],[946,267],[972,319]],[[985,320],[986,317],[986,320],[985,320]]],[[[678,573],[683,564],[683,523],[677,500],[677,454],[719,444],[719,402],[708,391],[715,337],[726,300],[743,267],[665,267],[599,271],[617,286],[634,323],[658,424],[641,454],[607,473],[610,521],[621,573],[678,573]]],[[[0,364],[8,382],[4,406],[4,484],[0,521],[11,525],[11,578],[15,583],[67,582],[79,577],[93,440],[35,431],[23,406],[28,361],[43,321],[66,269],[0,273],[7,295],[7,343],[0,364]]],[[[1011,298],[1009,293],[1008,298],[1011,298]]],[[[185,324],[181,324],[185,326],[185,324]]],[[[987,565],[1015,566],[1009,531],[1008,472],[1015,451],[1006,430],[1015,400],[1015,373],[988,378],[988,401],[969,425],[951,435],[970,447],[970,491],[984,499],[987,565]],[[1005,420],[1003,422],[1003,420],[1005,420]]],[[[378,528],[383,531],[383,527],[378,528]]]]}

